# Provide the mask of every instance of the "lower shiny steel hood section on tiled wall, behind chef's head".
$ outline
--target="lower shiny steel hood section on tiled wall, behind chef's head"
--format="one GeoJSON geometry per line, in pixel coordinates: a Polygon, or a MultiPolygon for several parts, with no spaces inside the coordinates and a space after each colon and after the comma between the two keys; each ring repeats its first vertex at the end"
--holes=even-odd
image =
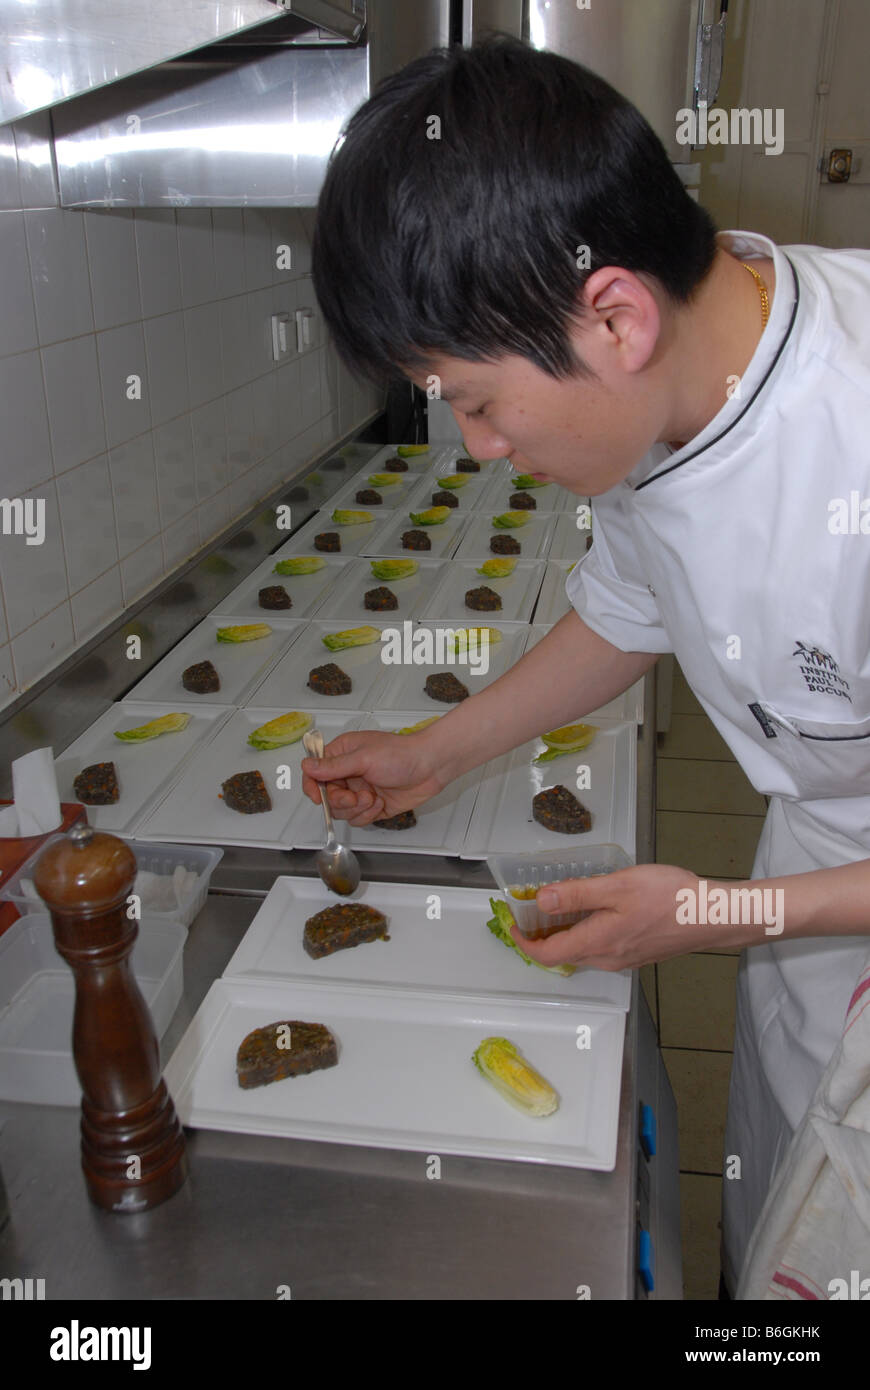
{"type": "Polygon", "coordinates": [[[61,203],[313,207],[342,125],[382,76],[448,42],[449,11],[367,0],[356,43],[285,15],[65,101],[51,111],[61,203]]]}

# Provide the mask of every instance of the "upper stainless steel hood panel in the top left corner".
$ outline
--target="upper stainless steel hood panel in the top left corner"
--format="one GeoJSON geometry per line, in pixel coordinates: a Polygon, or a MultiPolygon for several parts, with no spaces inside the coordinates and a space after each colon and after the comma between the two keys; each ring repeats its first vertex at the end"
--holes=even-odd
{"type": "Polygon", "coordinates": [[[0,125],[293,14],[354,42],[353,0],[0,0],[0,125]]]}

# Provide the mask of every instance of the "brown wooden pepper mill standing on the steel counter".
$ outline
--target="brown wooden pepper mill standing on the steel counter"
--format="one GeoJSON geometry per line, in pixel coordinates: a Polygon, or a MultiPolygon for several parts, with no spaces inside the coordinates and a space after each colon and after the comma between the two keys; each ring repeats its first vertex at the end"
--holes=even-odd
{"type": "Polygon", "coordinates": [[[88,824],[49,845],[33,873],[54,944],[75,976],[85,1183],[90,1200],[114,1212],[157,1207],[188,1176],[183,1130],[131,969],[139,926],[126,915],[126,897],[135,874],[131,849],[88,824]]]}

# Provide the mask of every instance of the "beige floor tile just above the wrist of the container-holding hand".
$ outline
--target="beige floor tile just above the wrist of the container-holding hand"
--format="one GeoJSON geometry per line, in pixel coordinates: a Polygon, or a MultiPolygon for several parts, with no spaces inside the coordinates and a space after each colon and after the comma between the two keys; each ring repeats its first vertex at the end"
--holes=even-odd
{"type": "Polygon", "coordinates": [[[680,865],[700,878],[748,878],[763,816],[656,812],[656,863],[680,865]]]}

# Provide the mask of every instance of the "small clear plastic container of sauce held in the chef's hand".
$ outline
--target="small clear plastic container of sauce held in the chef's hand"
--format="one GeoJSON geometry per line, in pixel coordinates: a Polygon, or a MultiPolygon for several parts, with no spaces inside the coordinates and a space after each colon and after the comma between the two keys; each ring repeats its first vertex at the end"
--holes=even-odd
{"type": "Polygon", "coordinates": [[[502,890],[517,927],[528,941],[552,937],[582,917],[585,912],[541,912],[535,894],[545,883],[563,878],[592,878],[634,863],[620,845],[589,845],[586,849],[548,849],[536,855],[491,855],[486,865],[502,890]]]}

